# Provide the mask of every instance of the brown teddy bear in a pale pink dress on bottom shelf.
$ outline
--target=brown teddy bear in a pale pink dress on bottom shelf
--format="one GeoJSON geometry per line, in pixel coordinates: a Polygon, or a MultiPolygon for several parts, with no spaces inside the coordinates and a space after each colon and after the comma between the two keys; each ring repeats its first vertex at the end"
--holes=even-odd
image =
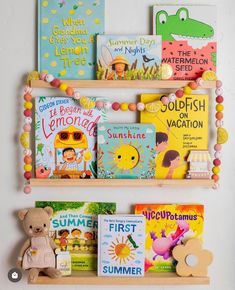
{"type": "Polygon", "coordinates": [[[19,219],[28,235],[17,261],[17,267],[29,270],[29,282],[34,283],[40,272],[51,278],[59,278],[61,272],[55,268],[57,246],[49,238],[51,207],[20,210],[19,219]]]}

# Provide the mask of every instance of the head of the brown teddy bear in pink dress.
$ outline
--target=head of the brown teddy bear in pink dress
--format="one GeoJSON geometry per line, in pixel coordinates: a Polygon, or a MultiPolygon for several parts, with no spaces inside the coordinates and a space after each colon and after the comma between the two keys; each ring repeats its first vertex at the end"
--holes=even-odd
{"type": "Polygon", "coordinates": [[[29,237],[45,237],[50,229],[50,216],[53,214],[51,207],[30,208],[20,210],[19,219],[29,237]]]}

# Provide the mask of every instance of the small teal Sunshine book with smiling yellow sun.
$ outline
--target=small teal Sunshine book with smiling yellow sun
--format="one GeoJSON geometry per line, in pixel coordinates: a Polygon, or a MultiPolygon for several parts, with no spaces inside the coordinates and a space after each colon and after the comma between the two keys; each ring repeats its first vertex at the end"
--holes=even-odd
{"type": "Polygon", "coordinates": [[[155,132],[152,124],[98,124],[98,178],[154,178],[155,132]]]}

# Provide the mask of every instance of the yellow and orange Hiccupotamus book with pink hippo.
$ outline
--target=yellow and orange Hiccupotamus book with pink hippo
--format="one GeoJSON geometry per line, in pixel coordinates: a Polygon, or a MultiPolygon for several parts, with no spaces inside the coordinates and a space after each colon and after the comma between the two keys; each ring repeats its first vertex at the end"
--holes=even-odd
{"type": "Polygon", "coordinates": [[[145,271],[175,272],[173,248],[191,238],[202,240],[203,205],[137,204],[146,219],[145,271]]]}

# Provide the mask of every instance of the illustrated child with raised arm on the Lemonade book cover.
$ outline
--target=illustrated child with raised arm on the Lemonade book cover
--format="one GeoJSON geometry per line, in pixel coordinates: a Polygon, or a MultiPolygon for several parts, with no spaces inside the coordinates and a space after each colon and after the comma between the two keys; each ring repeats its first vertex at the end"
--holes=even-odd
{"type": "Polygon", "coordinates": [[[80,164],[83,160],[83,153],[79,158],[77,158],[76,151],[74,148],[65,148],[62,152],[62,158],[64,161],[64,164],[61,168],[61,170],[76,170],[78,171],[78,164],[80,164]]]}

